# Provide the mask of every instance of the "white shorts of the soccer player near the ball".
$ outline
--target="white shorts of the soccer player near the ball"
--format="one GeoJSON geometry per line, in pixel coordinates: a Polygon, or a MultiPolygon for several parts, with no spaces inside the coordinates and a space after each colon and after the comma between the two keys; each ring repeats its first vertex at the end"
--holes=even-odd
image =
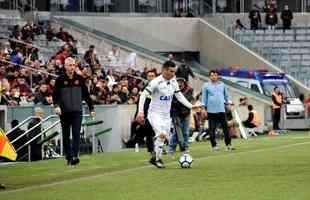
{"type": "Polygon", "coordinates": [[[148,120],[155,132],[155,137],[163,133],[168,138],[171,128],[170,117],[166,118],[157,113],[148,113],[148,120]]]}

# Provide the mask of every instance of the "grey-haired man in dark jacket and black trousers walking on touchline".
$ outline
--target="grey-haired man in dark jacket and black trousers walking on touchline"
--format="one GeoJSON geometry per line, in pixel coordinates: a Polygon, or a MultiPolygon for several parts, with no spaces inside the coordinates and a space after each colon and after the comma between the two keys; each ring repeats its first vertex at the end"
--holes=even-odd
{"type": "Polygon", "coordinates": [[[83,100],[88,105],[90,116],[95,117],[94,106],[85,85],[85,80],[75,72],[76,67],[75,59],[72,57],[66,58],[66,71],[56,79],[53,93],[54,109],[55,113],[60,117],[63,150],[68,165],[76,165],[80,162],[78,155],[83,100]],[[72,145],[70,144],[70,128],[72,129],[72,145]]]}

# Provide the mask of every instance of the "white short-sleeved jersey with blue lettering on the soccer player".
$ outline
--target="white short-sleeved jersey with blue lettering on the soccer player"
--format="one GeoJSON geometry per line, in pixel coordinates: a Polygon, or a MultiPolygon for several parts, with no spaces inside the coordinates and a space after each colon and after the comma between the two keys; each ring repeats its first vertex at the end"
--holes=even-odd
{"type": "Polygon", "coordinates": [[[166,80],[162,75],[153,79],[145,88],[152,96],[148,115],[152,113],[163,118],[170,118],[170,109],[173,95],[180,92],[178,82],[175,78],[166,80]]]}

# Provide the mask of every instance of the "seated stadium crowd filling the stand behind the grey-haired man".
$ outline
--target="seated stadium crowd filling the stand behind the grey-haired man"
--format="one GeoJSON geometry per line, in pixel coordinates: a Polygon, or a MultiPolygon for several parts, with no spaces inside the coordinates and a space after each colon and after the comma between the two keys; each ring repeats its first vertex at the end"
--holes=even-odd
{"type": "MultiPolygon", "coordinates": [[[[127,70],[121,72],[101,65],[94,45],[84,55],[79,55],[77,41],[63,28],[56,31],[49,25],[44,31],[39,25],[27,22],[22,27],[14,26],[10,37],[9,40],[0,40],[1,105],[52,105],[55,78],[64,73],[63,65],[67,57],[77,60],[77,73],[86,79],[95,104],[135,104],[144,86],[144,80],[140,77],[146,78],[149,70],[156,72],[150,68],[140,72],[134,66],[127,66],[127,70]],[[32,45],[41,34],[46,35],[47,42],[62,41],[52,57],[42,58],[40,48],[32,45]]],[[[119,59],[115,49],[107,55],[110,63],[119,59]]]]}

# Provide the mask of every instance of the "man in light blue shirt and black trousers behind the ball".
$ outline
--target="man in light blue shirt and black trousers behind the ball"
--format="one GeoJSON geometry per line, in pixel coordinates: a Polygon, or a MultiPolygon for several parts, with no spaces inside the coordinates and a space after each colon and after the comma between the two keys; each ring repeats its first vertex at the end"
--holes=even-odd
{"type": "Polygon", "coordinates": [[[223,128],[225,144],[227,150],[231,151],[234,148],[231,146],[231,137],[229,135],[225,106],[229,104],[228,91],[225,84],[219,81],[218,72],[211,70],[209,72],[210,82],[203,85],[202,88],[202,105],[208,113],[210,141],[214,151],[218,151],[215,140],[215,129],[220,123],[223,128]]]}

